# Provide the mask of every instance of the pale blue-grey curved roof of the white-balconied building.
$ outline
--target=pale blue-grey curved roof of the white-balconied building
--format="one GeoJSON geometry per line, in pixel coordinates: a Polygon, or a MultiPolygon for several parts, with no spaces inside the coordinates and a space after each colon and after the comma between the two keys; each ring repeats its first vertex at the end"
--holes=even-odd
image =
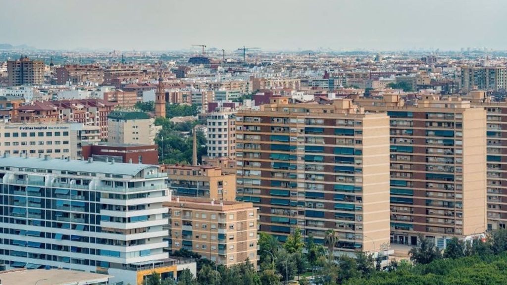
{"type": "Polygon", "coordinates": [[[139,163],[121,163],[115,162],[102,162],[88,160],[67,160],[67,159],[54,159],[54,158],[33,158],[33,157],[0,157],[0,166],[6,167],[23,167],[23,168],[37,168],[47,170],[62,170],[62,171],[77,171],[77,172],[94,172],[94,173],[109,173],[120,175],[136,175],[139,171],[157,167],[158,165],[139,164],[139,163]]]}

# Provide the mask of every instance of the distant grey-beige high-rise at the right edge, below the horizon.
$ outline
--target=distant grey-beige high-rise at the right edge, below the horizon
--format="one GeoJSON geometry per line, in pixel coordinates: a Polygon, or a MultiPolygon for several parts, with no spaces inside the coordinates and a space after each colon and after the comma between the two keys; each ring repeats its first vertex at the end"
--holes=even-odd
{"type": "Polygon", "coordinates": [[[461,89],[465,91],[507,89],[507,67],[461,66],[461,89]]]}

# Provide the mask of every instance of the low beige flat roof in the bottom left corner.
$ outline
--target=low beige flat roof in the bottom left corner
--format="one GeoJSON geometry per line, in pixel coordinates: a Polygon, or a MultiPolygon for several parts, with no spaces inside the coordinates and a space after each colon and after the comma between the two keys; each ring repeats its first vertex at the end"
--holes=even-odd
{"type": "Polygon", "coordinates": [[[108,281],[112,275],[90,273],[67,269],[30,269],[0,273],[2,284],[6,285],[75,285],[108,281]],[[45,280],[44,280],[45,279],[45,280]]]}

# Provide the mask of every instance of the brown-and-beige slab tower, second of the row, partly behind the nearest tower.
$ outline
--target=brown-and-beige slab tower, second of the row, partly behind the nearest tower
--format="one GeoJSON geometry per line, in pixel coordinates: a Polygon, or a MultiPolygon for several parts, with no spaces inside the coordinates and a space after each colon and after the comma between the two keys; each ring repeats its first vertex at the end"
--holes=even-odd
{"type": "Polygon", "coordinates": [[[390,118],[391,243],[416,245],[417,234],[443,248],[486,229],[486,112],[459,98],[400,95],[358,99],[390,118]]]}

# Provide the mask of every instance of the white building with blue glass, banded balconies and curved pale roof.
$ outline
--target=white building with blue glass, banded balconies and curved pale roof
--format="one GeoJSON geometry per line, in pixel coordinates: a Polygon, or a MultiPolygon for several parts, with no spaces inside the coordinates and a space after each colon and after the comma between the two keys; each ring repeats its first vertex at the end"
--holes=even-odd
{"type": "Polygon", "coordinates": [[[125,284],[153,271],[175,277],[163,251],[165,178],[147,164],[0,158],[0,261],[103,272],[125,284]]]}

